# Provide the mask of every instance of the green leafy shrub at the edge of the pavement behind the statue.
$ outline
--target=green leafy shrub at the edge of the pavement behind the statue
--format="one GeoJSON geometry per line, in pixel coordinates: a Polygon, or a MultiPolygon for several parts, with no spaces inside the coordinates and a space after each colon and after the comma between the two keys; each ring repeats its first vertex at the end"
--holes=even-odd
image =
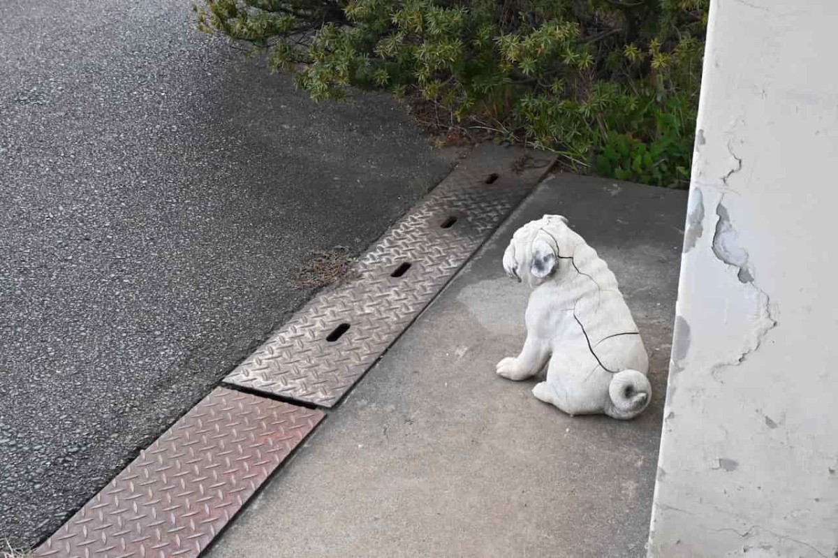
{"type": "Polygon", "coordinates": [[[660,186],[689,179],[709,0],[203,0],[314,99],[350,87],[435,123],[660,186]]]}

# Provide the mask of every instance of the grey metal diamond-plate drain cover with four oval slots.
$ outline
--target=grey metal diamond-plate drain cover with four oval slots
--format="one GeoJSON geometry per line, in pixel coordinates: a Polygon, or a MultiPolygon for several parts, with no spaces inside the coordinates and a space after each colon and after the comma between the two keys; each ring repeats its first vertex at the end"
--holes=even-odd
{"type": "Polygon", "coordinates": [[[552,160],[516,147],[479,147],[361,256],[344,282],[308,302],[225,382],[334,406],[552,160]]]}

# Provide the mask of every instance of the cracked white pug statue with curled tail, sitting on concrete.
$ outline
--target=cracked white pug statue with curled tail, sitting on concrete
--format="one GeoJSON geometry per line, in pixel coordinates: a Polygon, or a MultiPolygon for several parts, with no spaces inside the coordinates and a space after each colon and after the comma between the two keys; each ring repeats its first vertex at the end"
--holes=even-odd
{"type": "Polygon", "coordinates": [[[652,396],[649,355],[617,279],[582,236],[559,215],[545,215],[515,231],[504,253],[506,273],[533,288],[526,342],[498,374],[525,380],[547,360],[538,399],[568,415],[639,415],[652,396]]]}

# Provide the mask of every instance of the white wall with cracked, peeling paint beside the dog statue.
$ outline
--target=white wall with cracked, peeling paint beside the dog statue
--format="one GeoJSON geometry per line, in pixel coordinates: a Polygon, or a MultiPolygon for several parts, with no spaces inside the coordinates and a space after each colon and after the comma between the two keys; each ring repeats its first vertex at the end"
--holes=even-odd
{"type": "Polygon", "coordinates": [[[712,1],[650,555],[838,556],[836,39],[712,1]]]}

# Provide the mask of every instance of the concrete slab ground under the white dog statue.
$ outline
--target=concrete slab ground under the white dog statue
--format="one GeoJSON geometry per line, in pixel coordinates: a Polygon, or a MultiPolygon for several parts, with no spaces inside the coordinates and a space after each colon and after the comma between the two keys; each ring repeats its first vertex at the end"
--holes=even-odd
{"type": "Polygon", "coordinates": [[[402,336],[207,555],[642,556],[685,193],[548,179],[402,336]],[[512,233],[564,214],[608,261],[644,335],[652,405],[571,418],[494,373],[523,342],[512,233]]]}

